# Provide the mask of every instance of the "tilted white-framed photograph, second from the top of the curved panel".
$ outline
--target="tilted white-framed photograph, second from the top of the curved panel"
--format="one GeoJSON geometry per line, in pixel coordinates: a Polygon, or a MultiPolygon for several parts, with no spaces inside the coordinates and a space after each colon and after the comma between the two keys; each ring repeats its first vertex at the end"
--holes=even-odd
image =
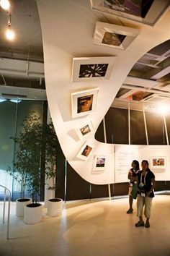
{"type": "Polygon", "coordinates": [[[140,30],[97,22],[94,30],[94,44],[125,50],[137,37],[140,30]]]}

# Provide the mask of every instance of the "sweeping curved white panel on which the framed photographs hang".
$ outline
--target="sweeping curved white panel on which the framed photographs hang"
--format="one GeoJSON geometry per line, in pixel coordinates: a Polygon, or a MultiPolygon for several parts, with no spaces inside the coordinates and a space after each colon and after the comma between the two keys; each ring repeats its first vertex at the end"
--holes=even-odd
{"type": "Polygon", "coordinates": [[[42,27],[48,104],[63,153],[68,163],[87,182],[114,183],[115,145],[98,142],[93,134],[86,138],[93,145],[93,152],[87,161],[83,161],[76,155],[86,140],[80,140],[75,129],[91,122],[94,132],[97,131],[135,62],[151,48],[169,39],[167,20],[170,13],[167,12],[156,27],[122,19],[124,25],[140,29],[140,35],[125,51],[120,51],[93,44],[97,21],[118,25],[122,25],[122,22],[112,15],[104,17],[104,14],[95,12],[91,9],[89,0],[37,0],[37,4],[42,27]],[[109,80],[71,82],[73,58],[94,56],[116,56],[116,64],[109,80]],[[99,88],[95,111],[73,118],[71,93],[92,88],[99,88]],[[93,171],[95,155],[107,156],[104,171],[93,171]]]}

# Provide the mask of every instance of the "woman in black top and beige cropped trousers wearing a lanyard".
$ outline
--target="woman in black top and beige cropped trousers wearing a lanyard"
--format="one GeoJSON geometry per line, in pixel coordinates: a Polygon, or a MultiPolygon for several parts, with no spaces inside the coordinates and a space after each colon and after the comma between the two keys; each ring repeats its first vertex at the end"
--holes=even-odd
{"type": "Polygon", "coordinates": [[[135,226],[144,226],[143,207],[145,206],[144,215],[146,216],[146,228],[150,227],[149,218],[151,216],[151,205],[154,197],[153,189],[155,188],[155,175],[148,167],[148,161],[143,160],[141,163],[142,171],[138,172],[138,223],[135,226]]]}

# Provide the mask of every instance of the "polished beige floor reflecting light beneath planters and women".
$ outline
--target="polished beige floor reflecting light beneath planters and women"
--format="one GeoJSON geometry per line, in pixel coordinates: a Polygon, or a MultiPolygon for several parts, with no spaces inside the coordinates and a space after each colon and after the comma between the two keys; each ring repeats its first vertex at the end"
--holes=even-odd
{"type": "Polygon", "coordinates": [[[63,216],[36,225],[23,223],[14,215],[12,202],[10,239],[2,224],[0,202],[1,256],[170,256],[170,195],[153,199],[151,227],[134,226],[134,213],[126,214],[128,198],[67,202],[63,216]]]}

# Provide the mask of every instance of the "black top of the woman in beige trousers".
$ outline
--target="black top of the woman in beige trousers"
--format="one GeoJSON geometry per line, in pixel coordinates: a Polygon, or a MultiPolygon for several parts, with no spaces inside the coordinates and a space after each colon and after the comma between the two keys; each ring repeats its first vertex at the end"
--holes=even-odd
{"type": "MultiPolygon", "coordinates": [[[[146,175],[142,175],[142,171],[138,172],[138,185],[140,184],[140,182],[143,182],[143,184],[145,184],[145,186],[143,186],[141,190],[141,192],[147,193],[149,191],[151,191],[151,187],[152,187],[152,179],[155,179],[155,175],[153,174],[153,172],[151,170],[146,172],[146,175]],[[141,175],[142,175],[142,180],[141,180],[141,175]]],[[[141,195],[141,192],[138,191],[138,194],[141,195]]],[[[149,197],[154,197],[154,192],[152,191],[151,194],[149,195],[149,197]]]]}

